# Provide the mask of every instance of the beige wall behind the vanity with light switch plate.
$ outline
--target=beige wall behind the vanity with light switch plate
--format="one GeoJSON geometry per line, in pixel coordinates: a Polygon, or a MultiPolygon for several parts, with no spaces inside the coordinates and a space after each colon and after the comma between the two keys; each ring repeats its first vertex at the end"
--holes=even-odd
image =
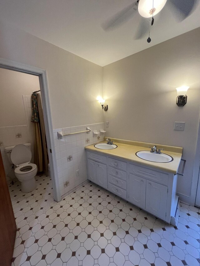
{"type": "Polygon", "coordinates": [[[199,43],[200,28],[103,67],[106,136],[183,147],[187,162],[178,192],[187,202],[200,114],[199,43]],[[184,107],[176,105],[181,85],[190,86],[184,107]],[[174,131],[174,121],[185,122],[185,130],[174,131]]]}

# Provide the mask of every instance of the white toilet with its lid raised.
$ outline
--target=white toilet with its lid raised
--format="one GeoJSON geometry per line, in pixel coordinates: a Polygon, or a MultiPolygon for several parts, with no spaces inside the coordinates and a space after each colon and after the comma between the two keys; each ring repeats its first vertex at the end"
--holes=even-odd
{"type": "Polygon", "coordinates": [[[37,165],[30,162],[32,157],[30,147],[31,143],[5,147],[9,162],[15,165],[15,176],[21,182],[21,190],[24,193],[36,189],[37,165]]]}

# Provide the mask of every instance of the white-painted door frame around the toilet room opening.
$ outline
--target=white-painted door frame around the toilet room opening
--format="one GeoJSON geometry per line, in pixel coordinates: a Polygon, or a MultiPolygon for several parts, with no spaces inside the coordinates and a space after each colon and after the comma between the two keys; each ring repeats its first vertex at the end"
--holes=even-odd
{"type": "Polygon", "coordinates": [[[14,70],[17,72],[31,74],[39,77],[40,93],[42,95],[41,97],[42,108],[44,113],[45,133],[47,138],[47,148],[48,148],[49,162],[50,162],[50,171],[53,183],[53,198],[55,201],[61,201],[57,162],[56,162],[56,152],[54,146],[53,124],[52,124],[50,101],[49,101],[49,90],[47,83],[47,71],[35,66],[22,64],[1,57],[0,57],[0,68],[14,70]]]}

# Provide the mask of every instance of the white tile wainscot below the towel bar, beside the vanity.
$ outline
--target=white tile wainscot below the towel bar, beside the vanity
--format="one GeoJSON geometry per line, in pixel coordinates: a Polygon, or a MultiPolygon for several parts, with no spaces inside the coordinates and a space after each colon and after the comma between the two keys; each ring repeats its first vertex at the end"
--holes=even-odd
{"type": "Polygon", "coordinates": [[[88,182],[85,146],[103,141],[104,134],[93,137],[93,131],[97,130],[99,132],[101,129],[104,129],[104,123],[57,128],[53,130],[62,198],[88,182]],[[91,132],[88,134],[78,133],[58,139],[57,132],[59,131],[62,131],[63,134],[68,134],[86,130],[87,127],[91,129],[91,132]],[[79,176],[77,177],[76,170],[78,169],[79,176]],[[69,185],[64,187],[66,181],[69,181],[69,185]]]}

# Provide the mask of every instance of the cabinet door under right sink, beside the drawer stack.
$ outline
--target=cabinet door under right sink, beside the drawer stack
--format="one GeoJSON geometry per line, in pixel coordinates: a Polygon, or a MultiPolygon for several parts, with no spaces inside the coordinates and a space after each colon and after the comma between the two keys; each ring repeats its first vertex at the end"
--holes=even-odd
{"type": "Polygon", "coordinates": [[[145,209],[146,179],[129,174],[129,201],[145,209]]]}

